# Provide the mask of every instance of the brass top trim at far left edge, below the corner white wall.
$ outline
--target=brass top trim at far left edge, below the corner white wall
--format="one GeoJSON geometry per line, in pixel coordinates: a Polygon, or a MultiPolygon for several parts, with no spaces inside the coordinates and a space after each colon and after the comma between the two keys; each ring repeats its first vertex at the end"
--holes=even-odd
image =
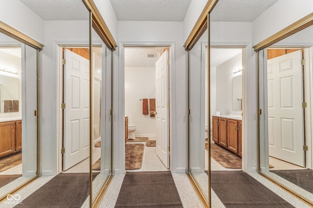
{"type": "Polygon", "coordinates": [[[14,29],[13,27],[5,24],[2,21],[0,21],[0,32],[11,37],[11,38],[19,40],[20,42],[25,43],[26,45],[28,45],[32,48],[39,49],[39,50],[43,50],[43,48],[44,48],[44,45],[41,44],[40,42],[37,42],[33,38],[29,38],[25,34],[14,29]]]}

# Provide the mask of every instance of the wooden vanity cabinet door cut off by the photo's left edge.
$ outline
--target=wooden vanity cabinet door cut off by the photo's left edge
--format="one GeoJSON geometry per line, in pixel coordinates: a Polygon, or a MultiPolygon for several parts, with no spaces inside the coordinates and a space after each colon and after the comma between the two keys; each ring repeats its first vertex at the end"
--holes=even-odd
{"type": "Polygon", "coordinates": [[[15,151],[15,121],[0,123],[0,157],[15,151]]]}

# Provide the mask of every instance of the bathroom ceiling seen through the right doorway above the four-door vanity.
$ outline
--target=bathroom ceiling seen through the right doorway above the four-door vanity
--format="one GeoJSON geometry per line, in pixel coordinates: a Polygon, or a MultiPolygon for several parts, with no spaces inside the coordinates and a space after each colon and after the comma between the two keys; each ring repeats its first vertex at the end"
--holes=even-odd
{"type": "MultiPolygon", "coordinates": [[[[239,48],[211,48],[210,66],[217,67],[225,61],[229,60],[230,58],[240,54],[241,52],[242,49],[239,48]]],[[[207,58],[207,56],[205,56],[205,58],[207,58]]]]}

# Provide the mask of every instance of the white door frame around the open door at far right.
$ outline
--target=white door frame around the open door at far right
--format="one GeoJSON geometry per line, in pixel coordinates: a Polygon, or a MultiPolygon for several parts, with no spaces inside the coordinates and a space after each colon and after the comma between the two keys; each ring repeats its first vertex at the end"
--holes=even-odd
{"type": "MultiPolygon", "coordinates": [[[[308,107],[305,109],[305,143],[309,147],[309,151],[305,152],[305,167],[308,169],[313,169],[313,122],[312,122],[312,111],[313,111],[313,46],[312,43],[303,44],[303,43],[276,43],[271,45],[268,48],[303,48],[304,56],[302,58],[306,59],[306,64],[304,65],[304,73],[307,76],[304,77],[305,84],[305,102],[307,102],[308,107]]],[[[268,115],[267,108],[267,73],[264,73],[264,69],[267,67],[267,53],[265,51],[259,51],[259,62],[260,62],[260,71],[259,71],[259,96],[260,96],[260,109],[264,109],[264,113],[260,115],[260,171],[268,171],[268,121],[265,118],[268,115]]]]}

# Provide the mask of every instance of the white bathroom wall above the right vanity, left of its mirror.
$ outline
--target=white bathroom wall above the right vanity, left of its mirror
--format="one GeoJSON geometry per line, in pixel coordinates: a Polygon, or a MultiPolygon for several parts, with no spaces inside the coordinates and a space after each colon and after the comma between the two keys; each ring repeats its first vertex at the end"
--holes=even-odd
{"type": "Polygon", "coordinates": [[[230,114],[233,110],[233,71],[242,67],[242,53],[216,67],[216,111],[230,114]]]}

